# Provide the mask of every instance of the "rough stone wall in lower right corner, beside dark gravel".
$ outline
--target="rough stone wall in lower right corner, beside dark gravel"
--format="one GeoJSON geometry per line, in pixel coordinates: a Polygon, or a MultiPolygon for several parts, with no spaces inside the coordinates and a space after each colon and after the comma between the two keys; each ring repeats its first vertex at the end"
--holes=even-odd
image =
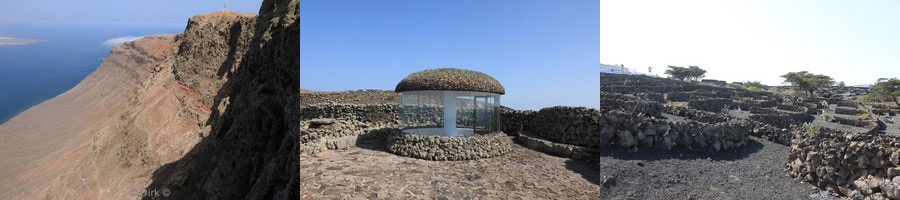
{"type": "Polygon", "coordinates": [[[794,140],[785,170],[853,199],[900,199],[900,138],[812,129],[794,140]]]}

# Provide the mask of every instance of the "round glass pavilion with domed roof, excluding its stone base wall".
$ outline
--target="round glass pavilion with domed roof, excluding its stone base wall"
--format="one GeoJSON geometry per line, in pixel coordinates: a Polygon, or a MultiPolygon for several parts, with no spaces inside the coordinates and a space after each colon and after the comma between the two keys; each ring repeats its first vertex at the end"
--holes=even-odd
{"type": "Polygon", "coordinates": [[[412,73],[394,91],[400,94],[401,130],[434,136],[498,131],[500,95],[506,93],[487,74],[454,68],[412,73]]]}

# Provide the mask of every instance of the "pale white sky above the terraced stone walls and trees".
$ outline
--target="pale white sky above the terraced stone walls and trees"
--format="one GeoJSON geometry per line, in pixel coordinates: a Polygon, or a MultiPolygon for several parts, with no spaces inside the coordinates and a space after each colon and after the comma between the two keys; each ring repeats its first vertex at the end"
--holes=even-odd
{"type": "Polygon", "coordinates": [[[600,1],[600,62],[781,85],[806,70],[848,85],[900,77],[900,1],[600,1]]]}

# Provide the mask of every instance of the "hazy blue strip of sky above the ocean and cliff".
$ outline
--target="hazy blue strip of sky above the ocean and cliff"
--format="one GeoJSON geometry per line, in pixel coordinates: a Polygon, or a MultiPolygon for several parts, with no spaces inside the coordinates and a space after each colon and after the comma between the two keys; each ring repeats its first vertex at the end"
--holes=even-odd
{"type": "MultiPolygon", "coordinates": [[[[190,16],[221,11],[223,0],[11,0],[0,22],[186,24],[190,16]]],[[[231,0],[228,9],[258,13],[262,0],[231,0]]]]}

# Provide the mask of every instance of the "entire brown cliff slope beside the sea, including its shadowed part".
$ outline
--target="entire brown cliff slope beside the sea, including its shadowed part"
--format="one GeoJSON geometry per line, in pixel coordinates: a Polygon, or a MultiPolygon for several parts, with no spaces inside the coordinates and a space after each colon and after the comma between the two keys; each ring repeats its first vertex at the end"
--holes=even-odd
{"type": "Polygon", "coordinates": [[[0,199],[299,198],[298,15],[267,0],[117,46],[0,125],[0,199]]]}

